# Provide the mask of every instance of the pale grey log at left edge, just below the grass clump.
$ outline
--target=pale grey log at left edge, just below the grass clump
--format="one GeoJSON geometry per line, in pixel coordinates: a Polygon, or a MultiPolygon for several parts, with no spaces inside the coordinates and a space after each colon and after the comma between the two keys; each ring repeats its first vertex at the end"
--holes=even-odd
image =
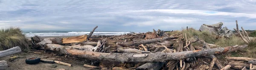
{"type": "Polygon", "coordinates": [[[7,50],[0,51],[0,58],[3,58],[5,56],[9,56],[9,55],[12,55],[12,54],[15,54],[15,53],[20,53],[20,52],[21,52],[20,47],[16,46],[16,47],[13,47],[13,48],[10,48],[10,49],[7,49],[7,50]]]}

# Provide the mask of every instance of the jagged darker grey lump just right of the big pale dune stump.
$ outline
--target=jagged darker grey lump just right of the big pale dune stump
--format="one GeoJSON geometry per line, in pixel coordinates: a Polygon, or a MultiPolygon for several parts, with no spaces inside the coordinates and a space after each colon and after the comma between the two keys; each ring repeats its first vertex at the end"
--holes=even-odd
{"type": "Polygon", "coordinates": [[[219,35],[220,36],[224,36],[224,37],[230,37],[232,35],[234,35],[234,32],[229,30],[227,27],[223,27],[220,31],[219,31],[219,35]]]}

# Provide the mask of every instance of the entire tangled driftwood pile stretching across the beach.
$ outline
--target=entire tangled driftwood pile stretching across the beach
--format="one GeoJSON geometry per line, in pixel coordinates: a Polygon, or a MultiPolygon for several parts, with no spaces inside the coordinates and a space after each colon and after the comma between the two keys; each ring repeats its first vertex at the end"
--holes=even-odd
{"type": "MultiPolygon", "coordinates": [[[[208,44],[197,36],[189,41],[186,34],[168,35],[161,30],[120,36],[92,36],[93,31],[88,36],[68,38],[34,36],[33,47],[93,60],[95,62],[84,67],[101,70],[229,70],[244,66],[230,63],[224,67],[214,55],[241,50],[247,45],[212,48],[217,45],[208,44]],[[195,42],[204,46],[193,46],[195,42]],[[200,57],[210,57],[212,62],[198,65],[202,62],[198,61],[200,57]]],[[[253,64],[255,60],[250,62],[253,64]]],[[[249,69],[247,64],[246,68],[249,69]]]]}

